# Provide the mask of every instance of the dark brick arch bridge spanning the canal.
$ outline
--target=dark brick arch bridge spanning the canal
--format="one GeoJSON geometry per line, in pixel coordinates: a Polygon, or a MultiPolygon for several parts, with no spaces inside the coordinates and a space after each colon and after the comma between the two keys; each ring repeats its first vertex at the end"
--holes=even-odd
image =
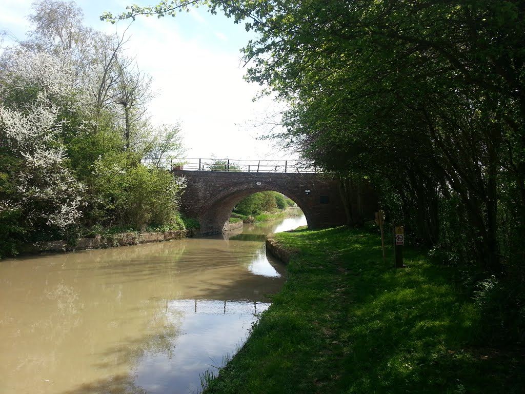
{"type": "MultiPolygon", "coordinates": [[[[288,196],[306,216],[310,229],[348,223],[338,180],[319,173],[272,173],[227,171],[174,171],[186,178],[181,210],[201,225],[201,234],[229,230],[229,217],[235,205],[246,196],[276,191],[288,196]]],[[[352,191],[353,218],[373,219],[377,208],[375,192],[370,187],[352,191]]]]}

